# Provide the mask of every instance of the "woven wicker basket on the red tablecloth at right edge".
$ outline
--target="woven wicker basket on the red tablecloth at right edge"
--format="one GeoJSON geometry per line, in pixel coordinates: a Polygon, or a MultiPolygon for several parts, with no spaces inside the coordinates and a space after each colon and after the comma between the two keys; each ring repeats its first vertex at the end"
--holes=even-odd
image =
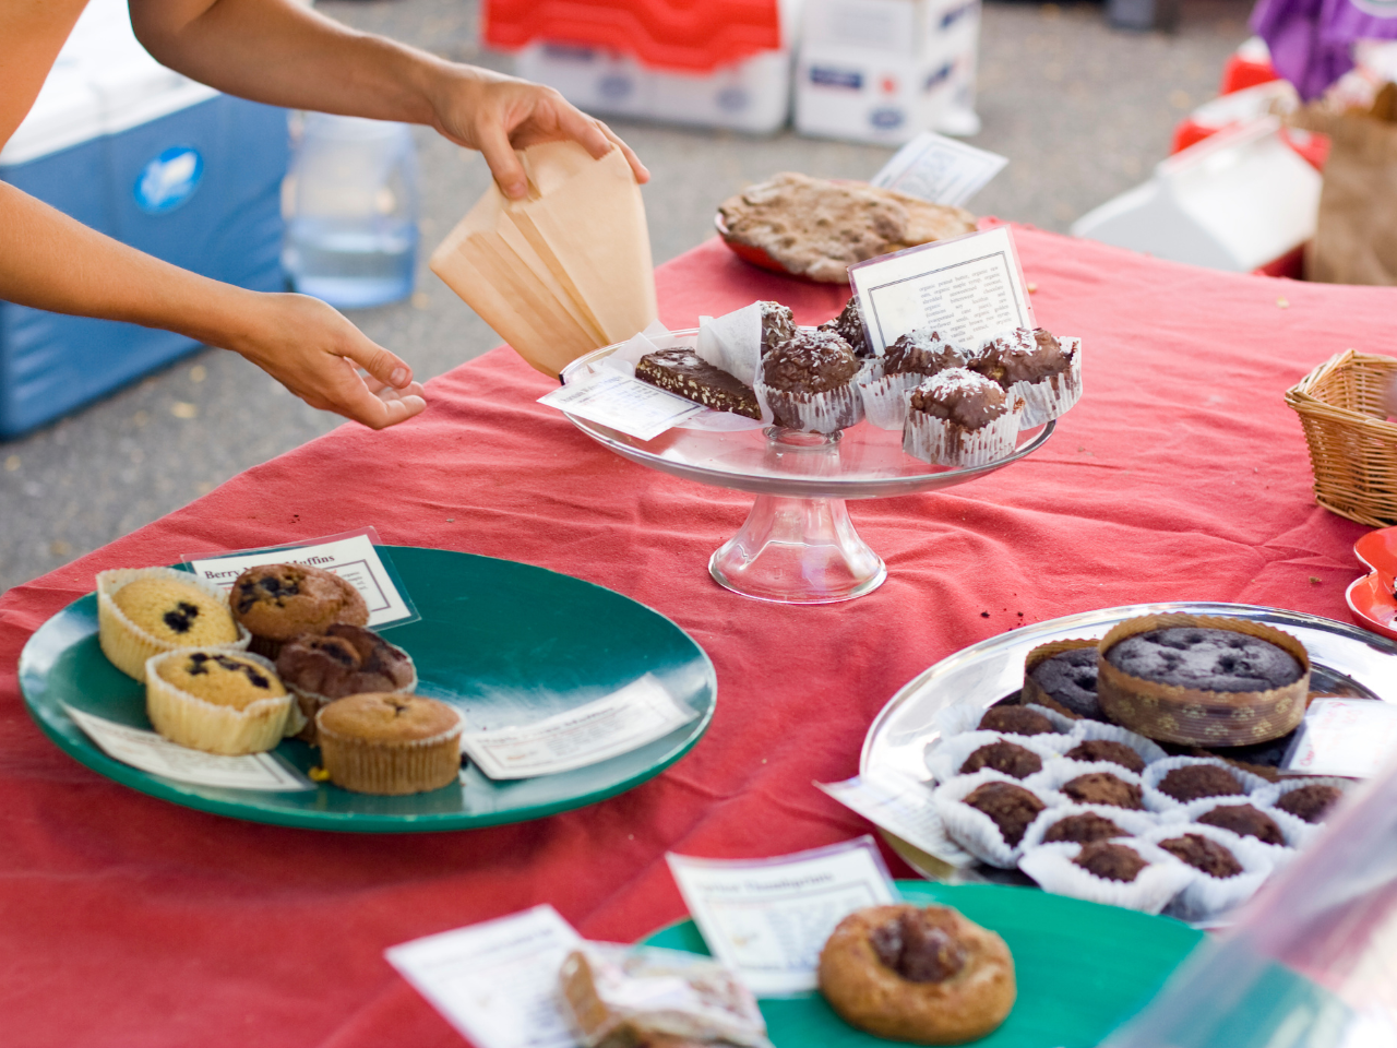
{"type": "Polygon", "coordinates": [[[1397,358],[1345,349],[1285,393],[1305,428],[1315,502],[1370,527],[1397,524],[1397,425],[1383,395],[1397,358]]]}

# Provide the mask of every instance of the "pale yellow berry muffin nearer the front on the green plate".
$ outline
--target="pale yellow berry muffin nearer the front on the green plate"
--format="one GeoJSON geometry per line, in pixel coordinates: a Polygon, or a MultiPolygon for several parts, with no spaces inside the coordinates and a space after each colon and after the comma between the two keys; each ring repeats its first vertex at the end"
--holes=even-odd
{"type": "Polygon", "coordinates": [[[145,713],[151,725],[163,738],[190,749],[224,755],[270,750],[282,739],[291,704],[277,668],[249,651],[177,648],[152,655],[145,664],[145,713]],[[190,674],[196,664],[198,668],[190,674]],[[175,681],[166,679],[168,675],[175,681]],[[235,690],[229,683],[246,686],[235,690]],[[205,694],[190,687],[205,689],[205,694]],[[265,692],[265,697],[249,701],[258,692],[265,692]]]}

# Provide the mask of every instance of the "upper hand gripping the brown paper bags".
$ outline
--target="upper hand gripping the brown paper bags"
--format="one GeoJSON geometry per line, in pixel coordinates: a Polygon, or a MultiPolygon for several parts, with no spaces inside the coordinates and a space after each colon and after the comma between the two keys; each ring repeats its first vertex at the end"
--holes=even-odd
{"type": "Polygon", "coordinates": [[[640,158],[601,120],[587,116],[553,88],[472,66],[448,66],[434,99],[436,129],[458,145],[479,150],[507,197],[528,191],[515,150],[574,140],[601,159],[620,150],[636,182],[648,182],[640,158]]]}

